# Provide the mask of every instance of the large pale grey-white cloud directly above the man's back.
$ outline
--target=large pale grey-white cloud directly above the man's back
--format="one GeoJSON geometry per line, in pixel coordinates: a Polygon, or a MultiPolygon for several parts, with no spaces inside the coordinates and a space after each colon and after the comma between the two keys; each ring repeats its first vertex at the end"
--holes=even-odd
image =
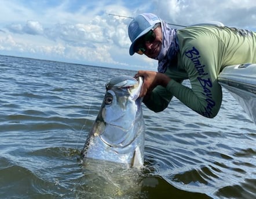
{"type": "Polygon", "coordinates": [[[256,1],[198,0],[159,1],[155,0],[154,12],[164,20],[182,25],[204,21],[220,21],[239,28],[255,27],[256,1]]]}

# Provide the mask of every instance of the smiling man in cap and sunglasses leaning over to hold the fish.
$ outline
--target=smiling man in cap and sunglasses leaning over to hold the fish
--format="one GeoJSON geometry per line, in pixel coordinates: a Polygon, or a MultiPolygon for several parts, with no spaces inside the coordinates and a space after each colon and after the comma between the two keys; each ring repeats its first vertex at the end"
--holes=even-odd
{"type": "Polygon", "coordinates": [[[134,52],[158,60],[158,72],[139,71],[145,105],[163,111],[173,96],[204,117],[220,110],[222,90],[217,77],[228,65],[256,63],[256,33],[217,25],[172,29],[158,16],[144,13],[128,27],[134,52]],[[191,88],[182,85],[189,79],[191,88]]]}

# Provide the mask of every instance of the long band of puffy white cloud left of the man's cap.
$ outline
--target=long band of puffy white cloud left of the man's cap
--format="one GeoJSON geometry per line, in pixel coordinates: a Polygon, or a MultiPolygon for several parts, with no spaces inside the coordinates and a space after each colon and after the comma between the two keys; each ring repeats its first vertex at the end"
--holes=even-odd
{"type": "MultiPolygon", "coordinates": [[[[129,20],[130,21],[130,20],[129,20]]],[[[62,41],[71,46],[90,46],[95,43],[115,44],[127,47],[130,41],[127,37],[127,20],[116,20],[107,14],[95,16],[82,23],[58,23],[43,27],[41,22],[28,20],[23,24],[10,24],[6,28],[9,32],[29,35],[43,35],[53,41],[62,41]]]]}

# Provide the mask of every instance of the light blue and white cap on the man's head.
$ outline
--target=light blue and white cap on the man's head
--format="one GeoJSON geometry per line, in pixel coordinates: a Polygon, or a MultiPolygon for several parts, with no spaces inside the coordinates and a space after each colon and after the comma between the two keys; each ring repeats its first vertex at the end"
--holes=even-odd
{"type": "Polygon", "coordinates": [[[159,22],[160,18],[152,13],[139,14],[130,22],[128,27],[128,34],[131,40],[130,55],[134,54],[134,43],[159,22]]]}

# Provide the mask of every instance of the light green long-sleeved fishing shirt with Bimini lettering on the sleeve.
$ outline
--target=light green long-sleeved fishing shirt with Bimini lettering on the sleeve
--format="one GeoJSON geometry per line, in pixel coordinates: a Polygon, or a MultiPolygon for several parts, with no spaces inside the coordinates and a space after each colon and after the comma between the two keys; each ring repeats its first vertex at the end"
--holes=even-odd
{"type": "Polygon", "coordinates": [[[193,26],[177,31],[180,50],[164,74],[171,78],[167,87],[158,86],[145,105],[163,111],[173,96],[204,117],[213,118],[220,110],[222,90],[218,74],[225,66],[256,63],[256,33],[244,29],[193,26]],[[189,79],[191,88],[182,85],[189,79]]]}

